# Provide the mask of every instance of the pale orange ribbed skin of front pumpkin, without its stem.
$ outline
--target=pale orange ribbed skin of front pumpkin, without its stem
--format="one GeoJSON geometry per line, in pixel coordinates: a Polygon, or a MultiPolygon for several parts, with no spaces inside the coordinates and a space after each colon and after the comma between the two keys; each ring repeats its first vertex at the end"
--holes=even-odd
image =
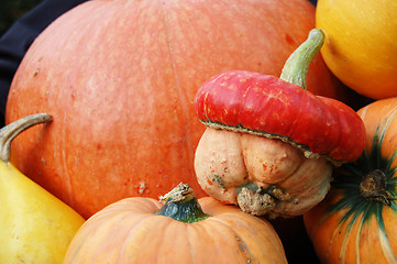
{"type": "Polygon", "coordinates": [[[287,263],[266,220],[210,197],[199,204],[210,217],[184,223],[154,215],[162,204],[152,198],[117,201],[79,229],[64,263],[287,263]]]}

